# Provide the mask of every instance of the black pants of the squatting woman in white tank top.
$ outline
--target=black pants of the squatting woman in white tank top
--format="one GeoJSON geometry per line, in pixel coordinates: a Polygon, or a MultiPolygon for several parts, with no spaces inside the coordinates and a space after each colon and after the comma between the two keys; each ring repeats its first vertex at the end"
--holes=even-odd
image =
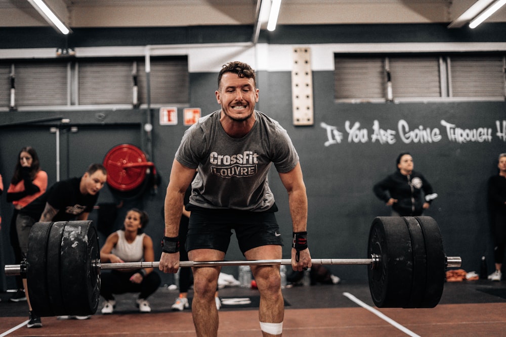
{"type": "Polygon", "coordinates": [[[107,301],[114,300],[113,294],[125,293],[139,293],[140,299],[147,299],[160,286],[160,275],[153,270],[144,277],[141,283],[131,282],[130,277],[137,272],[138,270],[131,272],[118,270],[103,272],[100,277],[100,295],[107,301]]]}

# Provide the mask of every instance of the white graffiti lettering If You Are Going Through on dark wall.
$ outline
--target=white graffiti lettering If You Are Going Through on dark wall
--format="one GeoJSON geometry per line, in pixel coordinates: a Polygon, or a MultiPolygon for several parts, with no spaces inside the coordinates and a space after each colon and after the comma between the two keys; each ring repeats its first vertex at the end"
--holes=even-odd
{"type": "MultiPolygon", "coordinates": [[[[384,129],[379,125],[377,120],[372,123],[372,128],[369,130],[361,126],[360,122],[352,124],[350,121],[345,122],[345,135],[337,126],[320,123],[320,126],[326,130],[327,140],[324,145],[326,147],[334,144],[340,144],[344,139],[349,143],[366,143],[378,142],[384,144],[394,144],[399,138],[402,142],[408,143],[433,143],[446,139],[450,142],[466,143],[466,142],[491,142],[492,141],[492,128],[477,127],[472,129],[460,128],[456,124],[449,123],[441,120],[440,124],[443,126],[443,131],[438,127],[427,127],[418,125],[412,127],[405,120],[401,119],[397,123],[397,131],[392,129],[384,129]],[[446,131],[446,132],[445,132],[446,131]],[[398,137],[397,137],[398,135],[398,137]]],[[[506,120],[495,121],[496,136],[506,142],[506,120]]]]}

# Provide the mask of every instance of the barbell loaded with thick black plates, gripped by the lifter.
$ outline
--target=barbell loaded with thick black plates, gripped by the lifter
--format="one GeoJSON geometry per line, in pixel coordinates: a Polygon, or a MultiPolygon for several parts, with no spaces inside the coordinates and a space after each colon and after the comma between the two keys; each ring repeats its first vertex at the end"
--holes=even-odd
{"type": "MultiPolygon", "coordinates": [[[[376,217],[365,259],[312,259],[314,265],[368,265],[369,290],[379,308],[433,308],[442,296],[447,257],[436,221],[420,217],[376,217]]],[[[290,265],[290,259],[181,261],[181,267],[290,265]]],[[[37,222],[28,239],[27,258],[6,265],[6,275],[28,283],[32,310],[39,316],[91,315],[100,299],[100,273],[107,269],[154,268],[159,262],[100,263],[92,221],[37,222]]]]}

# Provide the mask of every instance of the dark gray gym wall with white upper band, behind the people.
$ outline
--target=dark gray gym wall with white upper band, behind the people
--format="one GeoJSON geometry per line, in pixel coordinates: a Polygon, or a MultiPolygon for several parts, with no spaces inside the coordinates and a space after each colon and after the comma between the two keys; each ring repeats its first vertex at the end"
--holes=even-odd
{"type": "MultiPolygon", "coordinates": [[[[151,147],[149,160],[156,165],[161,185],[156,191],[146,191],[142,198],[126,200],[113,229],[120,228],[129,208],[145,209],[151,218],[146,232],[155,242],[158,258],[161,249],[156,243],[163,235],[164,190],[174,154],[188,128],[182,122],[183,108],[201,108],[202,115],[218,110],[214,95],[217,73],[226,62],[240,60],[257,70],[260,89],[257,109],[280,122],[299,152],[308,191],[309,246],[314,258],[366,257],[373,218],[390,214],[390,209],[374,197],[372,186],[394,172],[400,152],[409,151],[415,170],[429,179],[439,195],[426,215],[439,223],[446,254],[461,256],[462,268],[467,271],[478,271],[481,256],[486,256],[491,270],[486,182],[497,172],[497,155],[506,152],[504,100],[345,103],[334,99],[333,74],[334,53],[372,53],[378,49],[417,52],[427,50],[428,46],[435,52],[457,53],[462,48],[473,50],[479,46],[485,52],[504,55],[506,26],[489,24],[483,28],[470,31],[449,30],[441,25],[279,27],[274,33],[263,32],[257,45],[248,43],[252,33],[248,27],[103,29],[100,34],[94,29],[75,29],[68,45],[75,49],[77,58],[99,54],[111,57],[113,52],[107,51],[108,46],[115,46],[114,53],[142,56],[148,44],[157,45],[152,50],[157,55],[187,55],[190,101],[165,105],[178,108],[177,125],[160,125],[159,107],[155,106],[149,113],[145,105],[140,109],[59,107],[44,111],[8,111],[7,107],[0,107],[0,172],[4,186],[7,189],[18,151],[25,145],[35,147],[43,169],[49,174],[49,183],[56,182],[56,134],[51,128],[61,129],[58,169],[61,179],[81,175],[89,163],[101,162],[118,144],[132,143],[144,151],[151,147]],[[309,126],[295,126],[292,122],[291,52],[298,46],[311,50],[314,123],[309,126]],[[61,125],[64,118],[70,122],[61,125]],[[151,139],[143,130],[148,120],[153,124],[151,139]],[[71,132],[71,126],[77,128],[75,132],[71,132]],[[464,134],[476,131],[485,136],[462,139],[452,135],[456,129],[464,134]],[[429,137],[418,137],[420,130],[429,137]]],[[[56,47],[61,47],[61,38],[52,36],[50,30],[36,31],[50,38],[21,38],[27,34],[23,30],[7,29],[6,43],[0,49],[0,65],[16,57],[54,53],[56,47]]],[[[286,191],[274,169],[269,181],[279,207],[277,218],[285,241],[283,257],[288,258],[291,222],[286,191]]],[[[119,203],[120,199],[105,187],[99,203],[119,203]]],[[[12,205],[7,204],[5,194],[1,207],[0,254],[2,262],[10,264],[14,263],[9,245],[12,205]]],[[[93,212],[91,218],[97,217],[97,212],[93,212]]],[[[100,242],[104,241],[102,234],[100,242]]],[[[234,240],[226,258],[243,258],[234,240]]],[[[366,280],[364,266],[329,268],[345,280],[366,280]]],[[[236,274],[227,268],[224,272],[236,274]]],[[[165,283],[170,282],[170,276],[163,277],[165,283]]],[[[2,282],[4,289],[14,287],[14,280],[2,282]]]]}

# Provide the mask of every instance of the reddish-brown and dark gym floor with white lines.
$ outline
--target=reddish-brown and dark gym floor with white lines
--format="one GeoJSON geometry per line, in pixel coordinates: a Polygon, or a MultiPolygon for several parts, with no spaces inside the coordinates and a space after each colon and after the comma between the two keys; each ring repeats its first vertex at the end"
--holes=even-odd
{"type": "MultiPolygon", "coordinates": [[[[378,309],[367,283],[296,286],[283,290],[284,336],[499,336],[506,335],[506,281],[446,282],[433,309],[378,309]],[[363,306],[344,294],[351,294],[363,306]],[[370,307],[372,307],[372,310],[370,307]]],[[[102,315],[102,301],[87,320],[43,317],[42,328],[26,328],[26,302],[12,303],[0,293],[0,336],[194,336],[190,309],[171,311],[178,291],[160,288],[149,298],[152,312],[141,314],[135,295],[117,296],[112,315],[102,315]]],[[[191,297],[191,292],[189,297],[191,297]]],[[[240,287],[220,290],[219,336],[260,336],[258,291],[240,287]],[[232,305],[233,298],[251,304],[232,305]]]]}

